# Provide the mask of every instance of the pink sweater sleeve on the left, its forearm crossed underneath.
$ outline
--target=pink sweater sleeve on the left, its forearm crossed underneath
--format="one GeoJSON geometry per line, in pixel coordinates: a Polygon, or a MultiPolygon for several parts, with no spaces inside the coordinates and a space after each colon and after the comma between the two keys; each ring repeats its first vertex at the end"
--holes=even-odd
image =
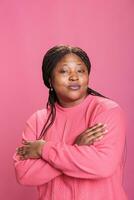
{"type": "MultiPolygon", "coordinates": [[[[25,140],[36,140],[36,113],[26,122],[22,138],[25,140]]],[[[19,156],[15,153],[13,160],[16,178],[20,184],[31,186],[42,185],[61,174],[61,171],[55,169],[43,159],[20,160],[19,156]]]]}

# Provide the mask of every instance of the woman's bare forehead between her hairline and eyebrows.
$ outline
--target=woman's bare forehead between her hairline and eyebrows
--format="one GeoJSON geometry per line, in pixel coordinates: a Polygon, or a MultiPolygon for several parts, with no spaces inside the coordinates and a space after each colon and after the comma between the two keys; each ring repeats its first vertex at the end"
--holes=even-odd
{"type": "Polygon", "coordinates": [[[84,62],[81,60],[81,58],[79,56],[77,56],[74,53],[70,53],[65,55],[63,58],[61,58],[61,60],[57,63],[57,65],[59,64],[68,64],[68,63],[81,63],[84,64],[84,62]]]}

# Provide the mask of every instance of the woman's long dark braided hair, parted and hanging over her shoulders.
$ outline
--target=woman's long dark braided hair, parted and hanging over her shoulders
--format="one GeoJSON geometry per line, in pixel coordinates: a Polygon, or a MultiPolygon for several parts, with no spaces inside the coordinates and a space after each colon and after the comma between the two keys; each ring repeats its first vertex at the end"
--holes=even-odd
{"type": "MultiPolygon", "coordinates": [[[[87,67],[88,74],[90,74],[91,63],[90,63],[89,57],[86,54],[86,52],[83,51],[81,48],[72,47],[69,45],[56,45],[47,51],[47,53],[44,55],[43,62],[42,62],[42,76],[43,76],[43,81],[44,81],[45,86],[47,88],[49,88],[49,97],[48,97],[48,102],[47,102],[47,108],[50,106],[50,114],[47,118],[46,123],[43,126],[43,129],[40,133],[39,139],[44,137],[47,130],[52,126],[52,124],[55,120],[55,116],[56,116],[55,102],[58,101],[58,98],[56,96],[56,92],[51,87],[52,71],[55,68],[55,66],[57,65],[57,63],[65,55],[71,54],[71,53],[73,53],[81,58],[81,60],[84,62],[84,64],[87,67]]],[[[88,94],[91,94],[91,95],[105,97],[91,88],[88,88],[87,92],[88,92],[88,94]]]]}

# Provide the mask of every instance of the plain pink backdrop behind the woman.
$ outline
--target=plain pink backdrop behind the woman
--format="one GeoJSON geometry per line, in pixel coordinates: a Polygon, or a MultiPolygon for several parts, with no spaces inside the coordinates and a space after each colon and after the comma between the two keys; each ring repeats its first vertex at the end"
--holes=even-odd
{"type": "Polygon", "coordinates": [[[124,185],[134,199],[133,0],[0,0],[0,199],[37,199],[15,179],[12,156],[25,121],[47,101],[41,63],[56,44],[80,46],[92,62],[90,86],[117,101],[128,119],[124,185]]]}

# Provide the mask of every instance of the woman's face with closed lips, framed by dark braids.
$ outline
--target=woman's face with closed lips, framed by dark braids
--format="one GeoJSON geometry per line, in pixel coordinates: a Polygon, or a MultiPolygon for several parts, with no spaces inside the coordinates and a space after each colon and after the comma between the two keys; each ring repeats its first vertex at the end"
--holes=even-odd
{"type": "Polygon", "coordinates": [[[59,103],[70,107],[87,96],[89,75],[81,58],[73,53],[65,55],[56,65],[51,76],[59,103]]]}

